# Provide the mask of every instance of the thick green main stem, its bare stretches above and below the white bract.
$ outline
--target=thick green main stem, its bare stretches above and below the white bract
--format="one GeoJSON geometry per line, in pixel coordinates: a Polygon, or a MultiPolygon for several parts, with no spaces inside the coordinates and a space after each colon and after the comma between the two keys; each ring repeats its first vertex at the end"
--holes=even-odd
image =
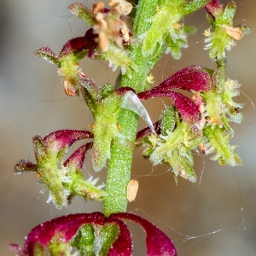
{"type": "MultiPolygon", "coordinates": [[[[208,1],[195,1],[199,7],[208,1]]],[[[137,65],[137,71],[132,71],[132,78],[127,75],[121,77],[121,87],[131,87],[136,92],[146,90],[146,80],[148,73],[154,67],[154,64],[159,61],[165,47],[157,49],[157,52],[152,55],[143,55],[143,36],[148,31],[152,24],[152,17],[157,11],[157,5],[160,4],[157,0],[140,0],[137,4],[137,14],[134,21],[134,33],[137,37],[137,44],[131,46],[131,57],[137,65]]],[[[194,2],[193,2],[194,3],[194,2]]],[[[186,10],[188,13],[195,10],[195,6],[189,6],[186,10]]],[[[177,20],[178,21],[178,20],[177,20]]],[[[145,39],[145,38],[144,38],[145,39]]],[[[134,142],[137,134],[138,117],[136,113],[122,110],[119,115],[120,136],[113,140],[111,147],[111,157],[108,162],[108,175],[106,180],[106,192],[108,197],[104,201],[103,213],[108,216],[113,212],[126,212],[127,198],[126,188],[131,179],[131,162],[134,148],[134,142]]]]}

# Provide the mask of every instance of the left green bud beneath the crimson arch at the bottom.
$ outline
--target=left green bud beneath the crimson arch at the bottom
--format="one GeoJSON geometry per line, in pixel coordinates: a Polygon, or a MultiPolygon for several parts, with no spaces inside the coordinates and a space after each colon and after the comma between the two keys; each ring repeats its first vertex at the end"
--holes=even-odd
{"type": "Polygon", "coordinates": [[[84,224],[80,228],[79,234],[70,241],[70,245],[76,247],[81,256],[95,256],[93,252],[94,239],[93,224],[84,224]]]}

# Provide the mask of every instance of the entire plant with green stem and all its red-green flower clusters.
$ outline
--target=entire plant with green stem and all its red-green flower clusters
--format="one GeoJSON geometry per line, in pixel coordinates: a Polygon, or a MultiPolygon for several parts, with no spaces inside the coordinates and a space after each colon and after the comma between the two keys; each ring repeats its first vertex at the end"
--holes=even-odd
{"type": "MultiPolygon", "coordinates": [[[[247,26],[234,27],[236,5],[226,8],[218,0],[143,1],[137,4],[133,29],[125,23],[131,3],[110,0],[108,8],[98,2],[93,9],[84,3],[73,3],[68,9],[91,27],[84,36],[72,38],[59,55],[43,47],[35,54],[58,67],[68,96],[82,94],[93,116],[90,131],[61,130],[44,138],[32,139],[36,164],[20,160],[15,173],[36,172],[35,177],[49,189],[49,201],[55,207],[66,207],[74,196],[103,201],[103,213],[70,214],[35,227],[23,248],[12,244],[18,256],[72,255],[73,247],[85,255],[132,255],[131,233],[124,219],[141,224],[145,230],[147,253],[150,256],[177,255],[172,241],[154,224],[125,212],[128,201],[134,201],[138,183],[131,179],[131,159],[135,147],[143,148],[143,156],[154,165],[171,166],[174,179],[183,177],[196,182],[193,150],[214,154],[220,165],[236,166],[241,158],[230,145],[234,131],[230,121],[241,123],[242,104],[237,81],[226,79],[226,50],[249,32],[247,26]],[[214,29],[207,30],[205,49],[216,63],[216,70],[201,66],[185,67],[154,84],[150,70],[164,52],[180,58],[187,47],[192,26],[178,24],[188,15],[205,6],[214,29]],[[131,32],[132,31],[132,32],[131,32]],[[84,57],[109,61],[113,71],[120,68],[115,85],[100,86],[79,67],[84,57]],[[181,91],[189,92],[184,96],[181,91]],[[158,121],[153,123],[143,102],[155,97],[168,97],[158,121]],[[137,131],[138,116],[148,124],[137,131]],[[69,157],[73,143],[89,139],[69,157]],[[86,152],[91,149],[93,169],[99,172],[108,166],[106,188],[97,185],[98,178],[84,179],[82,168],[86,152]],[[65,159],[65,160],[64,160],[65,159]]],[[[73,254],[76,255],[76,254],[73,254]]]]}

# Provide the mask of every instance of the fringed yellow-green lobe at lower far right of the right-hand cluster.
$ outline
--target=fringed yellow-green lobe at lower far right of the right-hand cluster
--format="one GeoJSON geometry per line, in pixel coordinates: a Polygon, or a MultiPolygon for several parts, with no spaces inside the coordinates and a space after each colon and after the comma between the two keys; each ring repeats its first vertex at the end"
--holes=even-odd
{"type": "Polygon", "coordinates": [[[204,127],[204,136],[207,137],[210,145],[206,151],[207,154],[215,152],[216,154],[211,158],[212,160],[218,160],[222,166],[240,166],[242,161],[241,157],[236,154],[234,148],[236,146],[230,145],[230,133],[225,128],[220,128],[215,125],[212,128],[211,125],[204,127]]]}

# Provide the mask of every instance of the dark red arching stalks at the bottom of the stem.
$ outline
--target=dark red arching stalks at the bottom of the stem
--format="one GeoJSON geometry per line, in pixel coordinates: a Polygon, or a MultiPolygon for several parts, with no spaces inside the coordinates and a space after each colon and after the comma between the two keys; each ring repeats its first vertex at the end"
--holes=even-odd
{"type": "MultiPolygon", "coordinates": [[[[113,213],[109,217],[105,217],[102,212],[92,212],[70,214],[60,218],[54,218],[33,228],[26,238],[23,249],[15,244],[11,244],[9,248],[19,256],[35,256],[35,250],[41,253],[40,255],[43,255],[44,249],[49,247],[54,250],[55,253],[63,253],[60,255],[66,255],[68,251],[64,252],[63,246],[60,246],[60,244],[62,243],[65,245],[71,241],[76,235],[77,231],[84,224],[92,224],[97,230],[101,230],[103,227],[112,224],[118,226],[119,234],[115,241],[113,241],[113,243],[109,246],[108,253],[105,253],[104,255],[131,256],[131,233],[123,219],[134,221],[143,226],[143,229],[147,235],[146,247],[148,256],[177,255],[172,241],[168,238],[168,236],[166,236],[165,233],[154,226],[154,224],[148,222],[148,220],[136,214],[127,212],[113,213]]],[[[96,234],[96,232],[94,234],[96,234]]],[[[100,233],[98,236],[100,236],[100,233]]],[[[111,236],[111,234],[108,234],[108,236],[111,236]]],[[[101,242],[103,243],[104,241],[101,242]]],[[[102,247],[104,247],[104,245],[102,245],[102,247]]],[[[102,253],[100,254],[102,255],[102,253]]]]}

